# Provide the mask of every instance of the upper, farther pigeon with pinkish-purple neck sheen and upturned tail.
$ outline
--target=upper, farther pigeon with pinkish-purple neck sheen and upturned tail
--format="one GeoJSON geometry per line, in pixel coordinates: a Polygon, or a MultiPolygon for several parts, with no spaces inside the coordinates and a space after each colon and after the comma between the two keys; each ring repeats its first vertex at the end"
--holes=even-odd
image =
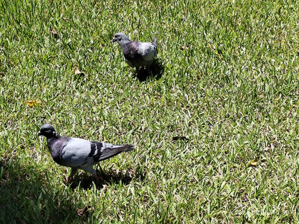
{"type": "Polygon", "coordinates": [[[122,47],[125,60],[131,67],[146,66],[149,71],[153,58],[157,55],[157,38],[153,38],[152,42],[131,41],[126,34],[117,33],[114,35],[112,42],[117,41],[122,47]]]}

